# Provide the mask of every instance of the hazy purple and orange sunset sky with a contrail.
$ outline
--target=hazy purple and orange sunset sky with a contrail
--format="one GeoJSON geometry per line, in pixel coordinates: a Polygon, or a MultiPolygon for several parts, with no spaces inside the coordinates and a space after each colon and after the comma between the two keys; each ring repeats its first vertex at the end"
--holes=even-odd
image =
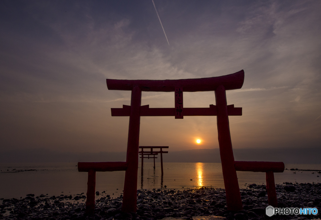
{"type": "MultiPolygon", "coordinates": [[[[233,149],[321,147],[321,1],[1,1],[0,152],[125,152],[130,91],[106,79],[244,70],[233,149]]],[[[215,105],[185,92],[184,107],[215,105]]],[[[174,107],[174,93],[142,105],[174,107]]],[[[140,145],[218,148],[215,116],[141,117],[140,145]],[[196,139],[201,143],[197,144],[196,139]]]]}

